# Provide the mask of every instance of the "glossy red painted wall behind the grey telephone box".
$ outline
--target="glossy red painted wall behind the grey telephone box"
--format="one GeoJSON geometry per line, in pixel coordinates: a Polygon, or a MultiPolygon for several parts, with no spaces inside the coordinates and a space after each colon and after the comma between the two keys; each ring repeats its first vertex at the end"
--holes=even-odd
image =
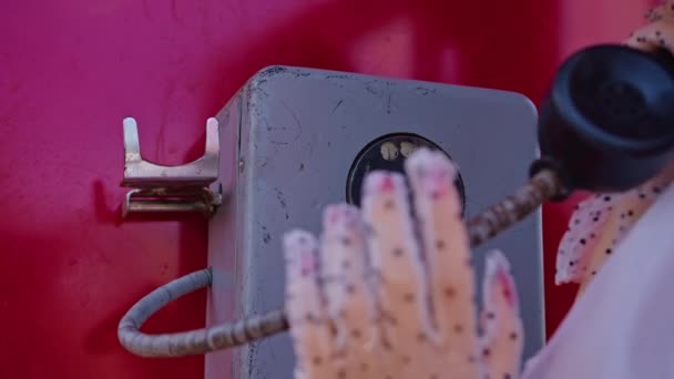
{"type": "MultiPolygon", "coordinates": [[[[122,117],[149,158],[201,155],[204,125],[246,78],[282,63],[513,90],[538,101],[556,64],[617,41],[644,1],[61,0],[0,6],[0,378],[200,378],[203,359],[145,360],[122,314],[206,264],[205,223],[120,219],[122,117]]],[[[522,162],[525,170],[525,162],[522,162]]],[[[547,267],[573,202],[547,208],[547,267]]],[[[548,280],[549,327],[573,289],[548,280]]],[[[150,331],[195,328],[204,294],[150,331]]]]}

